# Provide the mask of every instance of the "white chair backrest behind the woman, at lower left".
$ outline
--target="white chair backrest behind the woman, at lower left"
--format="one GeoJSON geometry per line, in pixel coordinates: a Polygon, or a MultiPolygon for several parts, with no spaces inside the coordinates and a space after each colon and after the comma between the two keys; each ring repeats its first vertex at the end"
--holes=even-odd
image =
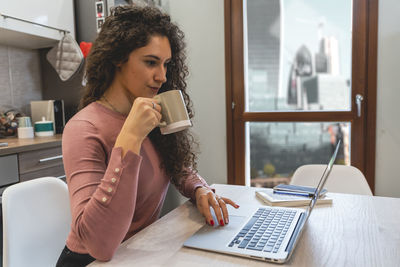
{"type": "Polygon", "coordinates": [[[3,267],[54,267],[71,224],[67,185],[38,178],[8,187],[2,200],[3,267]]]}

